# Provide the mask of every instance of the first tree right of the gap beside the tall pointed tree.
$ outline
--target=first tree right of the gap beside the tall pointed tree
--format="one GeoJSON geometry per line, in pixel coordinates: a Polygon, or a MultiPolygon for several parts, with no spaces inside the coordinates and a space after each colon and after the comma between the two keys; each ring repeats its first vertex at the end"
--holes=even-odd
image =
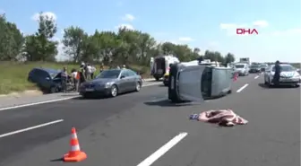
{"type": "Polygon", "coordinates": [[[88,34],[85,33],[80,27],[69,27],[64,29],[64,50],[69,55],[73,62],[79,62],[82,56],[82,49],[84,41],[87,39],[88,34]]]}

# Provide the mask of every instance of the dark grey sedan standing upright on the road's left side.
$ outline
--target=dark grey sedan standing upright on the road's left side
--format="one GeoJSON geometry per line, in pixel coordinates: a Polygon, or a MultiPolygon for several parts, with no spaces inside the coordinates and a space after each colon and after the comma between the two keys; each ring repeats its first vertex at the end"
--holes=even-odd
{"type": "Polygon", "coordinates": [[[102,71],[90,82],[82,83],[79,92],[82,97],[111,96],[122,92],[139,92],[142,77],[130,69],[108,69],[102,71]]]}

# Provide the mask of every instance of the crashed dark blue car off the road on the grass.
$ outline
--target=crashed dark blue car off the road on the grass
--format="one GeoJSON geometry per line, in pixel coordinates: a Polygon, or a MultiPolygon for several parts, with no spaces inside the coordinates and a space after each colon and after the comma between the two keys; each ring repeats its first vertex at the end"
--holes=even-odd
{"type": "Polygon", "coordinates": [[[61,71],[50,68],[33,68],[28,80],[37,83],[43,92],[60,92],[62,90],[61,71]]]}

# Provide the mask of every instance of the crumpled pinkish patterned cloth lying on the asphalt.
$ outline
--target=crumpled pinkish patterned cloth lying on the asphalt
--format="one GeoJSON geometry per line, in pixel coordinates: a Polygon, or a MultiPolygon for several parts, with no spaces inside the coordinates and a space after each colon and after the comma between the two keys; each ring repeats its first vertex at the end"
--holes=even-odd
{"type": "Polygon", "coordinates": [[[190,119],[196,119],[208,123],[218,124],[222,127],[234,127],[248,123],[245,118],[241,118],[231,109],[208,110],[201,114],[192,114],[190,119]]]}

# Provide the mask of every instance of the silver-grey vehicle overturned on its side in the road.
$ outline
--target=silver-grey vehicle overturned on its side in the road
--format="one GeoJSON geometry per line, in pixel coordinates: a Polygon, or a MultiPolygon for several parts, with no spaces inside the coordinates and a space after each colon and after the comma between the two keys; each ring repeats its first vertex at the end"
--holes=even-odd
{"type": "Polygon", "coordinates": [[[168,99],[173,102],[202,101],[231,93],[232,68],[196,61],[170,67],[168,99]]]}

